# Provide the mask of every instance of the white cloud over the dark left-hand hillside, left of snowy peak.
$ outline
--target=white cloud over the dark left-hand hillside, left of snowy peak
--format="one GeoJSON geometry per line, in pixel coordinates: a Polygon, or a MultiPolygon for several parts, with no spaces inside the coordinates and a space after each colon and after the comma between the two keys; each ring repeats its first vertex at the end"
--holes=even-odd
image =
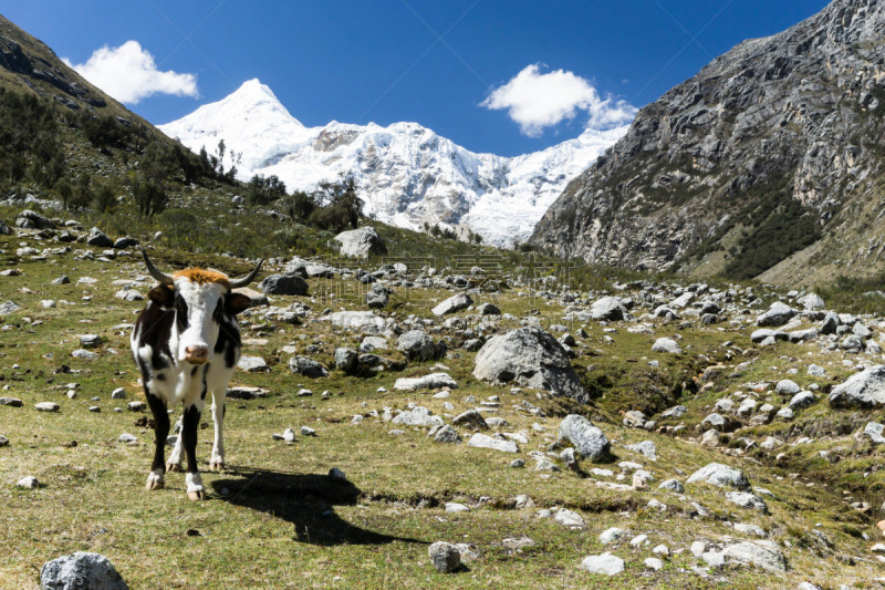
{"type": "Polygon", "coordinates": [[[126,41],[118,48],[96,49],[86,63],[64,63],[119,102],[137,104],[154,94],[199,96],[197,76],[178,72],[160,72],[154,56],[138,41],[126,41]]]}

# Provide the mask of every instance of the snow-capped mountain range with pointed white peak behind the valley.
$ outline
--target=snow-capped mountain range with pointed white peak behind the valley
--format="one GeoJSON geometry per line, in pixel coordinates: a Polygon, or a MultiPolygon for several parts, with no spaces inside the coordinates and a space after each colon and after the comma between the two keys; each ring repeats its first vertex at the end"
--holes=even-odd
{"type": "Polygon", "coordinates": [[[195,152],[217,153],[237,176],[277,175],[288,189],[310,190],[351,175],[366,215],[423,229],[467,229],[486,242],[524,241],[569,180],[586,169],[627,127],[587,130],[580,137],[518,157],[475,154],[417,123],[381,127],[332,122],[305,127],[258,80],[226,99],[159,125],[195,152]]]}

